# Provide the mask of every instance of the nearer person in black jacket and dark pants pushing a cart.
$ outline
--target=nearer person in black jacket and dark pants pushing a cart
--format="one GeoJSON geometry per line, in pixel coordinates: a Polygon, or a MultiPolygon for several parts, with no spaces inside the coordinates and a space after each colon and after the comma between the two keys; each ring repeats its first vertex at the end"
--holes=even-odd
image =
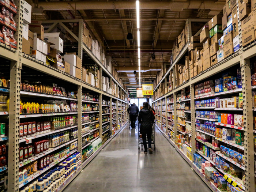
{"type": "Polygon", "coordinates": [[[152,141],[152,123],[154,123],[155,116],[151,108],[149,108],[148,102],[143,103],[143,109],[139,113],[140,133],[142,134],[143,146],[145,148],[144,153],[147,153],[147,140],[148,140],[148,151],[153,153],[151,149],[152,141]]]}

